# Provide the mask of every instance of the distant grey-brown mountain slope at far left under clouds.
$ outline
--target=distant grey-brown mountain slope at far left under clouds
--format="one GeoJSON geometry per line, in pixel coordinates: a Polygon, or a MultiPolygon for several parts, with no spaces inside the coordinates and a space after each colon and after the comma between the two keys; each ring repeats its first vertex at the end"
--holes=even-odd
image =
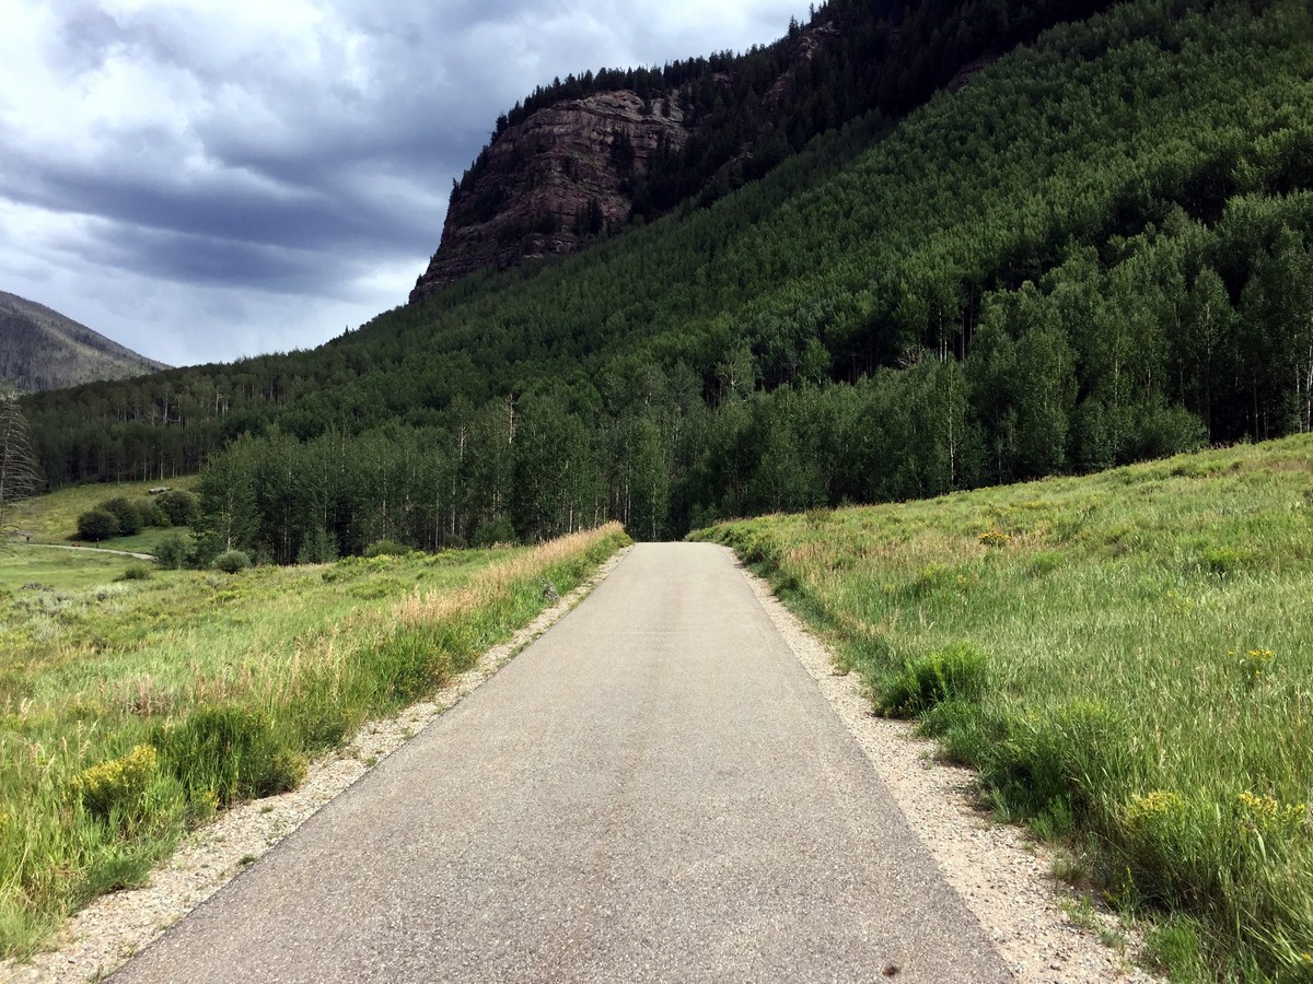
{"type": "Polygon", "coordinates": [[[0,380],[59,390],[168,369],[43,304],[0,291],[0,380]]]}

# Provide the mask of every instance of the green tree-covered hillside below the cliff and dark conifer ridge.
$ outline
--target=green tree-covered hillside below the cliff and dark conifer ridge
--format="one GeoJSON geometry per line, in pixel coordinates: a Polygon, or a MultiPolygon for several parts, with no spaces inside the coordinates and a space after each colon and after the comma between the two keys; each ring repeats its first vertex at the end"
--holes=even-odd
{"type": "Polygon", "coordinates": [[[1117,5],[710,207],[316,352],[34,396],[42,463],[227,447],[214,541],[291,560],[607,516],[671,535],[1306,430],[1309,24],[1117,5]]]}

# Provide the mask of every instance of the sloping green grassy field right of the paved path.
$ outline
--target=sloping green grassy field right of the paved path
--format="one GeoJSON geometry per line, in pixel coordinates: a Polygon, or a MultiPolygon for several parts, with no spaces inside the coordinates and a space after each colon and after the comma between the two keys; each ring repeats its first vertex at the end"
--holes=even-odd
{"type": "Polygon", "coordinates": [[[695,535],[1174,979],[1313,979],[1313,437],[695,535]]]}

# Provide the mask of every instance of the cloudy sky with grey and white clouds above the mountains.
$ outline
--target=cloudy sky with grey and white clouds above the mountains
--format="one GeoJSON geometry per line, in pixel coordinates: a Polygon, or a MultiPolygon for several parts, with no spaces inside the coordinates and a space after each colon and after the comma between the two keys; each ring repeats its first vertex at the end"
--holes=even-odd
{"type": "Polygon", "coordinates": [[[452,178],[553,76],[800,0],[0,0],[0,290],[172,365],[406,302],[452,178]]]}

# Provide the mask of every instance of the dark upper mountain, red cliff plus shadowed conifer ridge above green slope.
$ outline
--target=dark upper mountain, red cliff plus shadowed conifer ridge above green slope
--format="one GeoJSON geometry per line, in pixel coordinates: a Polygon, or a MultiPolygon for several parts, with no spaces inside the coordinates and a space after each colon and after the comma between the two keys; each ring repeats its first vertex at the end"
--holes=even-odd
{"type": "Polygon", "coordinates": [[[410,299],[708,205],[818,134],[871,112],[898,117],[1045,28],[1108,5],[831,0],[742,55],[555,79],[498,119],[454,182],[441,244],[410,299]]]}

